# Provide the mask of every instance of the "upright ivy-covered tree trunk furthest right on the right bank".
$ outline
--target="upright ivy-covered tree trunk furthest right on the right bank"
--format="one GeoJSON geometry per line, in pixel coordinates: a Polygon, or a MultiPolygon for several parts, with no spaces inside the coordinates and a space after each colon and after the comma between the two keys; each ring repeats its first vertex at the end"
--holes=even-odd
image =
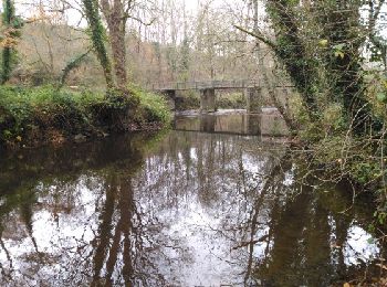
{"type": "MultiPolygon", "coordinates": [[[[341,56],[328,54],[325,59],[332,83],[331,100],[343,105],[345,119],[352,124],[355,134],[363,134],[372,123],[370,107],[364,94],[363,71],[359,64],[360,46],[365,38],[360,30],[360,0],[335,1],[331,6],[321,3],[325,15],[320,17],[323,26],[322,38],[328,40],[332,47],[343,46],[341,56]]],[[[317,6],[318,9],[318,6],[317,6]]]]}

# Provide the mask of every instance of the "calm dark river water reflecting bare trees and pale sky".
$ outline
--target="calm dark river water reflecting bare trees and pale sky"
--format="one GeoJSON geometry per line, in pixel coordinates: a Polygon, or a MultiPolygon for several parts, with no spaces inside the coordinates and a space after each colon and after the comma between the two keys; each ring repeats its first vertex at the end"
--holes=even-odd
{"type": "Polygon", "coordinates": [[[0,286],[330,286],[370,272],[373,211],[345,184],[300,184],[270,135],[281,124],[254,117],[3,153],[0,286]]]}

